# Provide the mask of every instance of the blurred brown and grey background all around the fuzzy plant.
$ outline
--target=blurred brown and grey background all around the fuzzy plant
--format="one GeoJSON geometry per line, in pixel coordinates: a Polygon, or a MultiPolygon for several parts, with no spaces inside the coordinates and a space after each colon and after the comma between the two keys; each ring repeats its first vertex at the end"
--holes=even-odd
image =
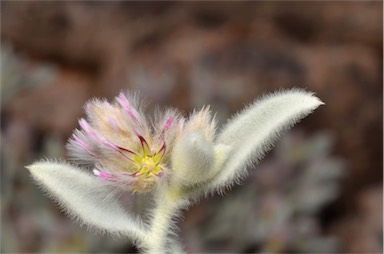
{"type": "Polygon", "coordinates": [[[380,1],[1,2],[1,252],[136,252],[87,232],[25,165],[66,158],[83,104],[140,90],[221,123],[283,88],[324,102],[240,186],[180,221],[188,252],[382,253],[380,1]]]}

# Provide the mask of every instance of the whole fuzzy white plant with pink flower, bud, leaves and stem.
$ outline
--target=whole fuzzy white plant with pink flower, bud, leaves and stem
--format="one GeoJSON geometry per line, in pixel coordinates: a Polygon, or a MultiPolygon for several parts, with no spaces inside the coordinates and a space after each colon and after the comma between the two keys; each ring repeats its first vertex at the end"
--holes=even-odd
{"type": "Polygon", "coordinates": [[[184,252],[175,217],[209,193],[223,192],[278,137],[323,104],[312,93],[288,90],[265,96],[217,131],[209,107],[184,118],[176,110],[144,115],[139,96],[91,100],[67,148],[72,163],[35,162],[27,168],[71,216],[93,229],[128,237],[145,253],[184,252]],[[150,216],[134,216],[122,192],[150,194],[150,216]]]}

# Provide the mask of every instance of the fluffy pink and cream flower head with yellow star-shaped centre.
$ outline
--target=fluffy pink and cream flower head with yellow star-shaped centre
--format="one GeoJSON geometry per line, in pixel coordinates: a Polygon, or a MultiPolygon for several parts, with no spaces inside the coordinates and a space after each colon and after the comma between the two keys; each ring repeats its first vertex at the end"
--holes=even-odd
{"type": "Polygon", "coordinates": [[[174,110],[156,116],[150,124],[137,96],[120,93],[113,103],[86,104],[67,148],[72,159],[123,189],[148,192],[169,171],[169,151],[183,121],[174,110]]]}

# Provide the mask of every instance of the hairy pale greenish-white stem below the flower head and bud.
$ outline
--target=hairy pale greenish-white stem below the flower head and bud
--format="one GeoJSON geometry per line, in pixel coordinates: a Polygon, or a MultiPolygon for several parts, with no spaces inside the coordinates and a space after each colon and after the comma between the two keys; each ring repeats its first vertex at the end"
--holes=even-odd
{"type": "Polygon", "coordinates": [[[170,246],[168,235],[174,227],[172,219],[183,207],[183,199],[177,189],[164,188],[155,196],[156,204],[152,211],[152,221],[146,237],[148,254],[169,253],[170,246]]]}

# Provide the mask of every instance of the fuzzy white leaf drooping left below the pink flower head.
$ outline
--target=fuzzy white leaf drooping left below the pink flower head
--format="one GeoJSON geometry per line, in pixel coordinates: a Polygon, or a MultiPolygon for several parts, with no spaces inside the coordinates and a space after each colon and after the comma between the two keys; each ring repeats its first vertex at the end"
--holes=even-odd
{"type": "Polygon", "coordinates": [[[27,168],[36,182],[81,223],[135,240],[143,238],[140,221],[113,198],[114,192],[104,180],[67,163],[43,161],[27,168]]]}

